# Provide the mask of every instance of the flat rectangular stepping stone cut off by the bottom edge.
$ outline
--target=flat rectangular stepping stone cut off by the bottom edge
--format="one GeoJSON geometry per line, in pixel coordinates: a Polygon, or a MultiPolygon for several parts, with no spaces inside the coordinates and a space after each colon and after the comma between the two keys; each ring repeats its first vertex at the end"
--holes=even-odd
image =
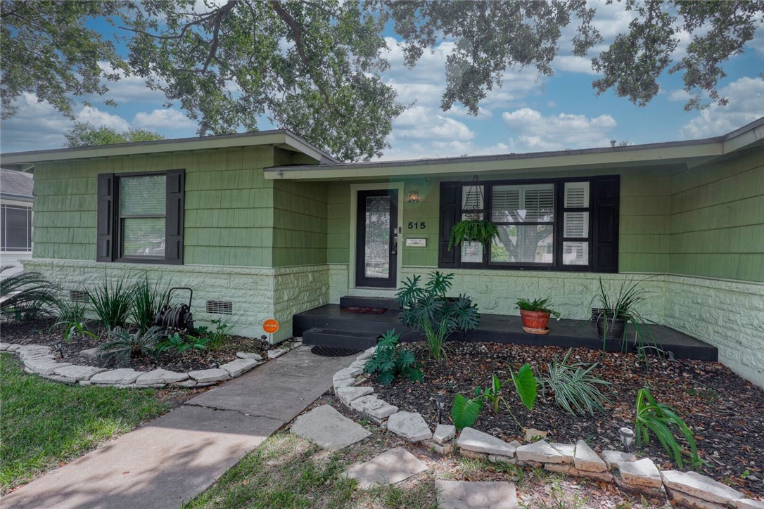
{"type": "Polygon", "coordinates": [[[438,507],[444,509],[519,509],[515,485],[510,482],[435,481],[438,507]]]}

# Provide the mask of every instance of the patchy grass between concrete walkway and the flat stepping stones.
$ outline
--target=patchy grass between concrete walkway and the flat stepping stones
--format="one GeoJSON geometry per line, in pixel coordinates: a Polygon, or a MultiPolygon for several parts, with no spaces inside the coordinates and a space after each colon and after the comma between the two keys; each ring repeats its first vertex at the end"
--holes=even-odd
{"type": "Polygon", "coordinates": [[[184,507],[435,507],[430,478],[355,490],[355,481],[341,474],[358,454],[364,451],[357,446],[330,453],[290,433],[276,433],[184,507]]]}

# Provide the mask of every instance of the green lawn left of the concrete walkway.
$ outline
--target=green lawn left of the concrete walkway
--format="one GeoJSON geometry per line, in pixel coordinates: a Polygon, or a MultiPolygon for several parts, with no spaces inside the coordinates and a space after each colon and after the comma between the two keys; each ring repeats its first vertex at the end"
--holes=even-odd
{"type": "Polygon", "coordinates": [[[0,493],[157,417],[170,404],[154,389],[81,387],[28,375],[0,354],[0,493]]]}

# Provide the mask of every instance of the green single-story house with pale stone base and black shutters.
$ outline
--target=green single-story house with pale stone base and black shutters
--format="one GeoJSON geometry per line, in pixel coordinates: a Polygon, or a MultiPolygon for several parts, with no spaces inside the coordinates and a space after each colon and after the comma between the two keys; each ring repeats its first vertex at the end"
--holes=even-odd
{"type": "MultiPolygon", "coordinates": [[[[286,130],[8,153],[34,172],[34,257],[76,291],[105,274],[194,290],[273,340],[345,295],[390,297],[406,277],[455,273],[481,312],[552,298],[585,319],[600,279],[646,279],[647,317],[717,346],[764,385],[764,118],[671,143],[340,163],[286,130]],[[448,249],[465,214],[487,249],[448,249]]],[[[76,296],[76,293],[72,294],[76,296]]]]}

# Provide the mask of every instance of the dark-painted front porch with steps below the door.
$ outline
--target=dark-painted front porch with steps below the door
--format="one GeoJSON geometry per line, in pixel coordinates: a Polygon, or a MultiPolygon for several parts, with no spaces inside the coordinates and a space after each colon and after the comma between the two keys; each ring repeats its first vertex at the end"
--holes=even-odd
{"type": "MultiPolygon", "coordinates": [[[[718,360],[718,350],[704,341],[662,325],[648,325],[656,346],[671,352],[677,359],[718,360]]],[[[335,346],[364,350],[377,343],[384,331],[395,329],[401,340],[417,340],[420,334],[398,320],[397,304],[387,298],[343,297],[340,304],[326,304],[293,317],[293,334],[309,345],[335,346]],[[343,310],[343,308],[345,310],[343,310]],[[351,312],[348,308],[376,309],[377,312],[351,312]],[[381,311],[384,309],[385,311],[381,311]]],[[[480,327],[466,333],[454,333],[450,340],[513,343],[520,345],[560,346],[601,350],[602,338],[594,322],[569,320],[549,322],[549,334],[523,332],[519,316],[481,314],[480,327]]],[[[626,330],[629,334],[631,331],[626,330]]],[[[620,342],[607,344],[608,351],[620,351],[620,342]]]]}

